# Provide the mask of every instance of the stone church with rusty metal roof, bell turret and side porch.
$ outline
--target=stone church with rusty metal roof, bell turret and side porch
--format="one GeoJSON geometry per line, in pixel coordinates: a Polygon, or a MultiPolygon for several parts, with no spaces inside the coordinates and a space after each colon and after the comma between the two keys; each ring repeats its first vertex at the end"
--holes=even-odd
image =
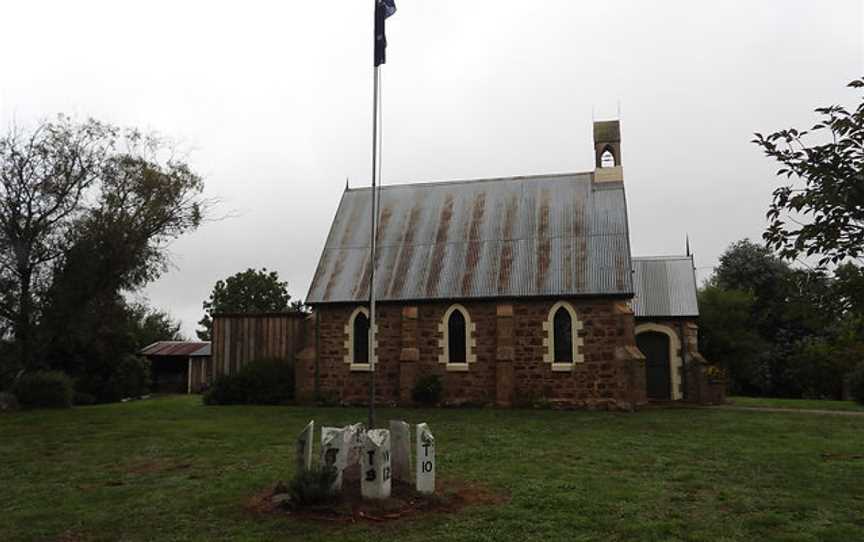
{"type": "Polygon", "coordinates": [[[631,255],[618,121],[594,124],[594,155],[581,173],[384,186],[372,333],[372,192],[346,188],[306,298],[301,378],[363,403],[374,356],[383,404],[411,404],[426,375],[448,405],[721,400],[692,257],[631,255]]]}

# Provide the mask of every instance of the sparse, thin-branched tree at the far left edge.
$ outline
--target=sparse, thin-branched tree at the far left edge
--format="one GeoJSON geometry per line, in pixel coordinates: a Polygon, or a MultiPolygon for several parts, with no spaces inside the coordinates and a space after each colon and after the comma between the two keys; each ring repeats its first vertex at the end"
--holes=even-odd
{"type": "Polygon", "coordinates": [[[95,121],[61,118],[0,139],[0,317],[10,322],[25,366],[32,363],[35,300],[49,281],[49,264],[62,253],[117,136],[95,121]]]}

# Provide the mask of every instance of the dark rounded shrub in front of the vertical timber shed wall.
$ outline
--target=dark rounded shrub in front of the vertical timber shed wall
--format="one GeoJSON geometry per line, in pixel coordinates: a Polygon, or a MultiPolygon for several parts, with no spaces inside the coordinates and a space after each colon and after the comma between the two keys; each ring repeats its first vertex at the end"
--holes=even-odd
{"type": "Polygon", "coordinates": [[[216,379],[204,394],[207,405],[281,405],[294,399],[294,366],[284,360],[259,360],[216,379]]]}

